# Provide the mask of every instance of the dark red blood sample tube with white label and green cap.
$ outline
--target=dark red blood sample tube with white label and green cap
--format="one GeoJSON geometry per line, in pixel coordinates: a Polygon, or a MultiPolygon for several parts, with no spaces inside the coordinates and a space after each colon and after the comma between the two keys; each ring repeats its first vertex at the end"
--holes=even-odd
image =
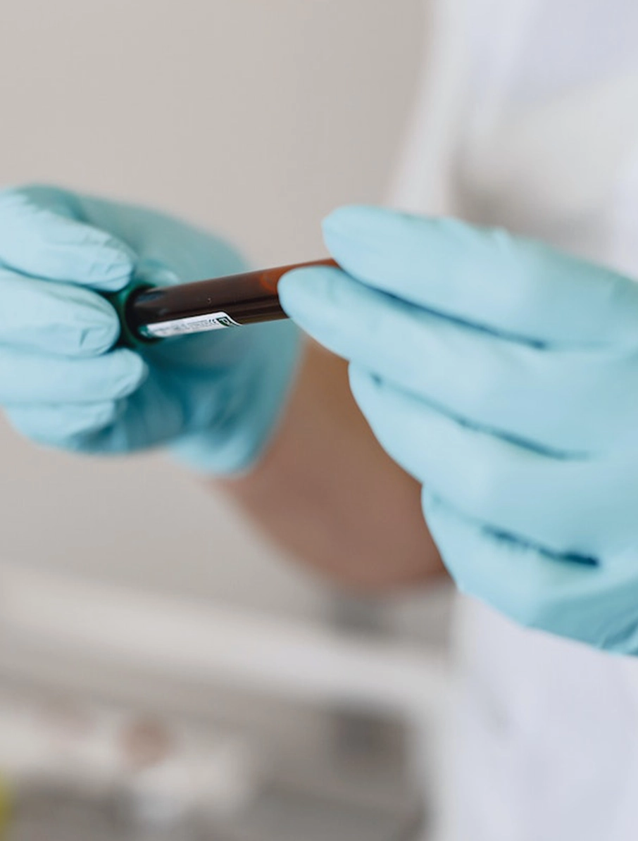
{"type": "Polygon", "coordinates": [[[337,263],[318,260],[177,286],[134,288],[115,302],[124,339],[156,341],[286,318],[277,284],[287,272],[307,266],[337,263]]]}

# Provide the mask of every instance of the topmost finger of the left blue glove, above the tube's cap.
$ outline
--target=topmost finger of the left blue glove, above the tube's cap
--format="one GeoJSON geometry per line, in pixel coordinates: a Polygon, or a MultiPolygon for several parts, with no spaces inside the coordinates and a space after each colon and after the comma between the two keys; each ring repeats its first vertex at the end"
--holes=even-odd
{"type": "Polygon", "coordinates": [[[108,231],[80,221],[71,193],[25,188],[0,192],[0,265],[114,292],[129,283],[134,254],[108,231]]]}

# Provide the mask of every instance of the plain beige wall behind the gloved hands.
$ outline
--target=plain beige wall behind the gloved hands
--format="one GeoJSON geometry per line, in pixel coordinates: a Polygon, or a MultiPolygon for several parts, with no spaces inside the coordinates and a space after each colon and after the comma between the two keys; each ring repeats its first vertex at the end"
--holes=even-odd
{"type": "MultiPolygon", "coordinates": [[[[421,0],[3,0],[0,183],[156,204],[259,264],[379,201],[421,0]]],[[[159,458],[42,452],[0,424],[0,560],[309,611],[319,592],[159,458]]]]}

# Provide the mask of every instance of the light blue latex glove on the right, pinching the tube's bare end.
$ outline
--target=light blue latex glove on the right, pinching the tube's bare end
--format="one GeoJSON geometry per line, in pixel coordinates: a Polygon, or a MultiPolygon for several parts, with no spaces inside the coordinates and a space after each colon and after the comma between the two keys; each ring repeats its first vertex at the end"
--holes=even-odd
{"type": "Polygon", "coordinates": [[[638,283],[382,209],[340,209],[324,235],[348,274],[291,273],[282,304],[351,360],[461,590],[638,653],[638,283]]]}

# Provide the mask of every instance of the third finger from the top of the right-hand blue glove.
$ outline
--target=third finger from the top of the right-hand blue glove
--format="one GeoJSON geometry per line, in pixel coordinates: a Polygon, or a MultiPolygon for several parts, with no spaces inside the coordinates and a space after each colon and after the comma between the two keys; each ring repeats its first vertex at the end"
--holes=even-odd
{"type": "Polygon", "coordinates": [[[588,460],[554,458],[464,425],[355,366],[351,389],[386,452],[466,516],[557,554],[600,548],[607,503],[588,460]]]}

